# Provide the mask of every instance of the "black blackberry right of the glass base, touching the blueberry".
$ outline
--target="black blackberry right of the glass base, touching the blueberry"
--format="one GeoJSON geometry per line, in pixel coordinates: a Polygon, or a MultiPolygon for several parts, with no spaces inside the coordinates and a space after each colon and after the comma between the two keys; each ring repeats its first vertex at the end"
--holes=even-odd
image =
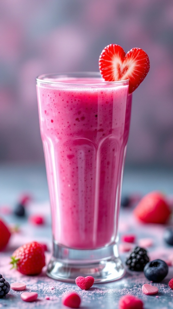
{"type": "Polygon", "coordinates": [[[143,271],[144,266],[149,262],[147,251],[140,247],[135,247],[130,256],[127,257],[126,265],[130,270],[143,271]]]}

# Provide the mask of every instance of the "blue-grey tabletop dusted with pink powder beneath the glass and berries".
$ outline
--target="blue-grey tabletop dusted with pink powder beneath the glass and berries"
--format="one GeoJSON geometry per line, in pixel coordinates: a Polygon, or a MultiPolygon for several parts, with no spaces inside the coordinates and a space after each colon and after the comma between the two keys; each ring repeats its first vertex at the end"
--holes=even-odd
{"type": "MultiPolygon", "coordinates": [[[[150,191],[159,190],[169,197],[173,194],[173,169],[161,168],[126,168],[123,178],[123,195],[144,195],[150,191]]],[[[148,249],[151,258],[163,258],[173,255],[173,247],[163,242],[165,226],[145,225],[135,221],[132,208],[122,208],[120,212],[120,239],[128,233],[136,235],[137,243],[141,238],[152,238],[153,246],[148,249]]],[[[61,303],[62,294],[76,291],[80,294],[81,308],[109,308],[118,309],[119,298],[122,295],[132,294],[141,298],[145,309],[173,308],[173,290],[168,286],[173,277],[173,267],[169,267],[167,277],[158,284],[159,293],[147,296],[142,293],[142,285],[149,283],[143,273],[129,272],[119,281],[94,284],[88,290],[80,290],[75,284],[55,281],[46,276],[45,268],[39,276],[24,276],[16,270],[10,270],[9,260],[13,251],[31,240],[46,243],[51,251],[51,219],[49,194],[47,189],[46,172],[41,165],[0,165],[0,215],[9,224],[19,224],[20,232],[12,235],[5,251],[0,252],[0,273],[10,283],[26,282],[28,291],[38,292],[38,300],[33,303],[23,302],[21,291],[10,290],[5,298],[0,299],[0,307],[7,308],[65,308],[61,303]],[[4,207],[13,209],[22,193],[29,193],[32,202],[27,208],[27,215],[43,214],[46,218],[44,226],[34,227],[25,219],[16,218],[14,214],[4,214],[4,207]],[[45,297],[49,296],[47,300],[45,297]]],[[[0,236],[1,237],[1,236],[0,236]]],[[[124,261],[128,253],[120,253],[124,261]]],[[[49,260],[50,252],[46,253],[49,260]]],[[[173,257],[172,257],[173,258],[173,257]]]]}

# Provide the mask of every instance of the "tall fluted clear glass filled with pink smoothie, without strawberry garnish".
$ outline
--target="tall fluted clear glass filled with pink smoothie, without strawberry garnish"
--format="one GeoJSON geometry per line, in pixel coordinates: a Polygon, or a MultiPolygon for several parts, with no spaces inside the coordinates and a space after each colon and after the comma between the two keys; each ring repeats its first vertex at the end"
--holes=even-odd
{"type": "Polygon", "coordinates": [[[118,221],[131,115],[129,81],[99,73],[37,78],[40,131],[52,213],[48,276],[95,282],[124,274],[118,221]]]}

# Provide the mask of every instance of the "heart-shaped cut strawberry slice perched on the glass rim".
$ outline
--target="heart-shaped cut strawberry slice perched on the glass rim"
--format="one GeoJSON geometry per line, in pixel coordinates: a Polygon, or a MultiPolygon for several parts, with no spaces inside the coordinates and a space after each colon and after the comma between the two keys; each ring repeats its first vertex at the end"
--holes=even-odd
{"type": "Polygon", "coordinates": [[[127,54],[117,44],[106,46],[99,57],[99,69],[105,81],[129,79],[129,93],[133,92],[150,69],[148,55],[141,48],[132,48],[127,54]]]}

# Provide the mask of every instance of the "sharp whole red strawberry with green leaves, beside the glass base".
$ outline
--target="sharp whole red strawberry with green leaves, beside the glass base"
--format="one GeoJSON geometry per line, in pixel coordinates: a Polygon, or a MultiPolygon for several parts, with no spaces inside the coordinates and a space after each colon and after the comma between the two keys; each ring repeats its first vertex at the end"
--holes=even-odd
{"type": "Polygon", "coordinates": [[[19,247],[13,252],[10,264],[24,275],[38,275],[45,266],[42,244],[33,241],[19,247]]]}

